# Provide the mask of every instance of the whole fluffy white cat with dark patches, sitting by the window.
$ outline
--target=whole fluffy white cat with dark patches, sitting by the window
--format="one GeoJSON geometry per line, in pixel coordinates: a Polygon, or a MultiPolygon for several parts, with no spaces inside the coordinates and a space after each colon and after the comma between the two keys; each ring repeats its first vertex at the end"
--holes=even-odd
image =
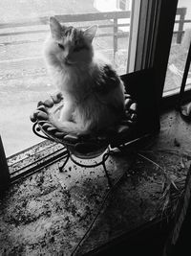
{"type": "Polygon", "coordinates": [[[115,127],[124,110],[124,86],[116,71],[97,58],[93,39],[97,26],[85,31],[50,18],[44,54],[64,106],[53,125],[67,133],[86,134],[115,127]]]}

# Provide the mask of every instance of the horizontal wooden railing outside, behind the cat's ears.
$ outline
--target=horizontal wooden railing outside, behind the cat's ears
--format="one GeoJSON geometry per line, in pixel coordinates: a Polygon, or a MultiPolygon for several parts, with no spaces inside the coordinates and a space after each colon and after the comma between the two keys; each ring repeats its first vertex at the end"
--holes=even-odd
{"type": "MultiPolygon", "coordinates": [[[[55,15],[61,23],[71,24],[71,23],[83,23],[83,22],[91,22],[91,21],[102,21],[98,27],[100,29],[111,29],[113,32],[109,33],[101,33],[97,34],[96,37],[103,36],[112,36],[113,37],[113,46],[114,46],[114,54],[117,52],[117,39],[120,37],[127,37],[129,32],[123,32],[119,30],[121,27],[130,26],[130,23],[118,23],[119,19],[130,18],[131,12],[96,12],[96,13],[82,13],[82,14],[65,14],[65,15],[55,15]]],[[[48,28],[49,17],[39,17],[35,19],[21,20],[19,22],[10,22],[10,23],[1,23],[0,24],[0,37],[3,36],[13,36],[13,35],[32,35],[32,34],[40,34],[47,33],[49,31],[48,28]],[[43,27],[43,29],[39,29],[43,27]],[[12,29],[16,31],[7,32],[6,29],[12,29]],[[30,29],[30,30],[29,30],[30,29]],[[3,32],[1,32],[3,30],[3,32]]],[[[81,26],[81,28],[85,29],[88,26],[81,26]]],[[[6,38],[5,38],[6,39],[6,38]]],[[[25,39],[25,40],[11,40],[2,41],[0,45],[9,45],[9,44],[23,44],[23,43],[32,43],[38,40],[25,39]]]]}

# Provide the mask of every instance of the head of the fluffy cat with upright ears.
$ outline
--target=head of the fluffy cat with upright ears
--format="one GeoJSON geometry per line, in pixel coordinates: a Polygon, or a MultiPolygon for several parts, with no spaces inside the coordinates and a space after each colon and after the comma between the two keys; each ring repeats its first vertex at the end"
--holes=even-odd
{"type": "Polygon", "coordinates": [[[51,47],[50,54],[65,65],[89,63],[94,56],[92,46],[97,26],[84,31],[72,26],[61,25],[54,17],[50,18],[51,47]]]}

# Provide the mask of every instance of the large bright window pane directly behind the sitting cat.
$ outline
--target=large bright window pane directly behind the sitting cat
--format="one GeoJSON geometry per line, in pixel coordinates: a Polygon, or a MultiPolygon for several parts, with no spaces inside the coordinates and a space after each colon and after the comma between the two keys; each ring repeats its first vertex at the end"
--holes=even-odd
{"type": "Polygon", "coordinates": [[[75,27],[97,24],[96,51],[124,74],[131,17],[127,2],[123,12],[116,0],[0,1],[0,133],[7,156],[40,141],[32,133],[30,114],[38,101],[56,91],[42,56],[49,16],[68,15],[65,24],[75,27]]]}

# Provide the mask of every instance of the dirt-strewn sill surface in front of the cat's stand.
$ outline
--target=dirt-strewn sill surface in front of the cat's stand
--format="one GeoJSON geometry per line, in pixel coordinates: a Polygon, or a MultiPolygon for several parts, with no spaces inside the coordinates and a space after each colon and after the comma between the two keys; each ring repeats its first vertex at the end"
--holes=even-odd
{"type": "Polygon", "coordinates": [[[158,137],[110,156],[107,169],[117,185],[104,204],[109,188],[101,166],[80,168],[69,161],[60,173],[59,160],[21,178],[0,200],[0,254],[71,255],[98,212],[76,255],[167,216],[190,166],[190,129],[176,112],[164,114],[158,137]]]}

